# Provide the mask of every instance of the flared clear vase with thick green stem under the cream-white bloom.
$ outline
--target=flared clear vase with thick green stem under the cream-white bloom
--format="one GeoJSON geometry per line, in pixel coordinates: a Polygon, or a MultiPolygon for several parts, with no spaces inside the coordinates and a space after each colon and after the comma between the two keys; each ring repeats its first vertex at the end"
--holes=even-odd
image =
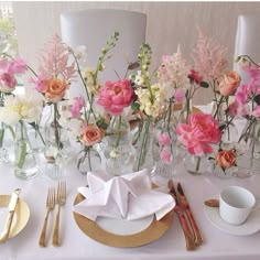
{"type": "Polygon", "coordinates": [[[14,175],[28,180],[37,173],[39,165],[28,138],[26,124],[20,121],[15,127],[14,175]]]}

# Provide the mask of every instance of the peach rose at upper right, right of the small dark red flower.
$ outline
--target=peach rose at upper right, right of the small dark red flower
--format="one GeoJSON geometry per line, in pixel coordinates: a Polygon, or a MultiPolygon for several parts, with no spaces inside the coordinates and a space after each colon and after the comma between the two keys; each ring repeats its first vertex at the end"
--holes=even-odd
{"type": "Polygon", "coordinates": [[[218,85],[219,93],[227,97],[230,96],[241,82],[240,75],[237,72],[228,72],[224,75],[224,79],[218,85]]]}

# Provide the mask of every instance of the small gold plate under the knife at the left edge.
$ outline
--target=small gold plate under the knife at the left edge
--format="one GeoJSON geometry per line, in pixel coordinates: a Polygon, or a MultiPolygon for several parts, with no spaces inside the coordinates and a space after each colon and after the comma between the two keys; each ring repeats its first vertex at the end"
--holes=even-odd
{"type": "MultiPolygon", "coordinates": [[[[0,195],[0,210],[1,208],[7,208],[8,210],[8,205],[11,199],[10,195],[0,195]]],[[[17,236],[22,229],[26,226],[28,220],[30,218],[30,209],[28,204],[19,198],[15,212],[14,212],[14,217],[11,226],[11,230],[9,234],[9,238],[12,238],[17,236]]],[[[4,226],[6,223],[0,223],[1,226],[4,226]]],[[[3,228],[2,228],[3,230],[3,228]]]]}

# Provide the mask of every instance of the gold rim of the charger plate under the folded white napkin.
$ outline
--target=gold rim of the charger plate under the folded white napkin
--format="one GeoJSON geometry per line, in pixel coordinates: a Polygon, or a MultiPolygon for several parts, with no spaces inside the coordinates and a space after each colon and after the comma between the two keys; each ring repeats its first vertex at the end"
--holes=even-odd
{"type": "MultiPolygon", "coordinates": [[[[84,198],[82,194],[77,194],[74,205],[80,203],[84,198]]],[[[80,214],[75,212],[73,214],[79,229],[89,238],[106,246],[118,248],[141,247],[153,242],[167,231],[173,221],[173,210],[171,210],[160,220],[156,220],[154,216],[150,226],[140,232],[133,235],[117,235],[104,230],[97,223],[80,214]]]]}

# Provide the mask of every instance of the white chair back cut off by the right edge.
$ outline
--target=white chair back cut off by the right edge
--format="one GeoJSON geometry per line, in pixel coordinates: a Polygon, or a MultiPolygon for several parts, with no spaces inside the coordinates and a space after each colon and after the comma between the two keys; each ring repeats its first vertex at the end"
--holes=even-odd
{"type": "MultiPolygon", "coordinates": [[[[260,14],[242,14],[238,17],[238,26],[235,45],[235,58],[239,55],[249,55],[254,62],[260,63],[260,14]]],[[[248,83],[249,76],[239,69],[235,64],[235,69],[241,75],[241,83],[248,83]]]]}

